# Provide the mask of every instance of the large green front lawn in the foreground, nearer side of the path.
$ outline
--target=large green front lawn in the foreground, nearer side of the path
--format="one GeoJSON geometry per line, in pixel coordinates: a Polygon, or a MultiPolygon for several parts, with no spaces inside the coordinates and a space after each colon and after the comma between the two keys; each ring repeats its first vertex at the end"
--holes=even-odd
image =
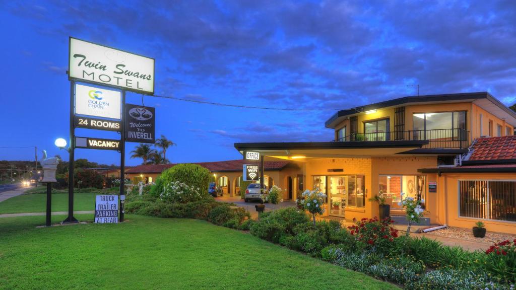
{"type": "Polygon", "coordinates": [[[0,218],[0,289],[397,289],[205,221],[126,217],[0,218]]]}

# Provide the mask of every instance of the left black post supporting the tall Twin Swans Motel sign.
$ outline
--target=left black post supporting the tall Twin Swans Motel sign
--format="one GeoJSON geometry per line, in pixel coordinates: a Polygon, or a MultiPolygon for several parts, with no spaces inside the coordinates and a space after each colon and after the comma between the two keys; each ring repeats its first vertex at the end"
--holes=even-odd
{"type": "Polygon", "coordinates": [[[75,150],[75,120],[74,120],[74,95],[75,81],[70,80],[70,147],[68,159],[68,217],[63,223],[75,223],[78,220],[73,217],[73,169],[74,169],[74,150],[75,150]]]}

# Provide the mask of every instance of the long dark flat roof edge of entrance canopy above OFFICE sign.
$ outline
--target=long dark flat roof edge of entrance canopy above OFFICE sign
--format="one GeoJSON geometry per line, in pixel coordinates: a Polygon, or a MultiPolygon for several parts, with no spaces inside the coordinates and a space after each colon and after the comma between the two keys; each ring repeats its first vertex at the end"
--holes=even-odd
{"type": "Polygon", "coordinates": [[[428,144],[428,140],[400,141],[350,141],[350,142],[258,142],[235,143],[238,151],[244,150],[292,150],[292,149],[367,149],[367,148],[414,148],[428,144]]]}

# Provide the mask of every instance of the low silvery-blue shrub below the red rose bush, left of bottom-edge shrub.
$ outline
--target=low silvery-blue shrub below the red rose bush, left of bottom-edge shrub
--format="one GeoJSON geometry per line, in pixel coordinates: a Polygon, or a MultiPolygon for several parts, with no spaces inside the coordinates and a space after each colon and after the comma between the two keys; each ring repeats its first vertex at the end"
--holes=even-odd
{"type": "Polygon", "coordinates": [[[369,267],[369,274],[378,279],[398,284],[413,281],[425,272],[423,262],[410,255],[401,255],[382,259],[380,263],[369,267]]]}

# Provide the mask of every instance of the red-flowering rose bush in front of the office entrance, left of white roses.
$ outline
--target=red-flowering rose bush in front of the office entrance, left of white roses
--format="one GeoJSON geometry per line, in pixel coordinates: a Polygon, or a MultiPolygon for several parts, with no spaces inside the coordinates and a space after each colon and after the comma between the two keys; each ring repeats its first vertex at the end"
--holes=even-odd
{"type": "Polygon", "coordinates": [[[348,227],[349,233],[368,247],[387,249],[398,237],[398,230],[391,227],[392,220],[389,218],[363,218],[360,221],[353,218],[353,222],[354,224],[348,227]]]}

